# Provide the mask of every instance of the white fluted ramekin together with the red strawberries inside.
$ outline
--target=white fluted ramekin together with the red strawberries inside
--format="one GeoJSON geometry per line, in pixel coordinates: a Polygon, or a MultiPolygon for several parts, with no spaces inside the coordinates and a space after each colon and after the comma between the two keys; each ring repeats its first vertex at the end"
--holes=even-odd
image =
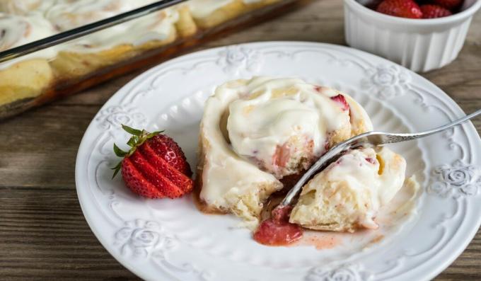
{"type": "Polygon", "coordinates": [[[439,69],[463,47],[481,0],[344,0],[347,44],[413,71],[439,69]]]}

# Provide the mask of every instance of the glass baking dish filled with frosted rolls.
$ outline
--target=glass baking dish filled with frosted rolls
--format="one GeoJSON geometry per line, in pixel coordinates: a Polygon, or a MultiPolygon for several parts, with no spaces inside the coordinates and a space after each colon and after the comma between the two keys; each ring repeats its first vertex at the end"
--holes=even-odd
{"type": "MultiPolygon", "coordinates": [[[[156,0],[2,0],[0,51],[156,0]]],[[[158,64],[306,0],[190,0],[0,64],[0,119],[158,64]]]]}

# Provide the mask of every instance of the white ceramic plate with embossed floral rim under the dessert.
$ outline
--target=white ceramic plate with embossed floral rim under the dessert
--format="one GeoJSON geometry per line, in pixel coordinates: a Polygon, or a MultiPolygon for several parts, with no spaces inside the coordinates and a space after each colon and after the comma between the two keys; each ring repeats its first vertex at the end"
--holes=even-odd
{"type": "Polygon", "coordinates": [[[110,167],[119,161],[112,144],[128,137],[122,123],[165,129],[195,167],[204,101],[216,85],[256,75],[297,76],[338,88],[364,105],[378,130],[415,132],[464,115],[414,72],[336,45],[252,43],[195,52],[154,67],[105,103],[76,160],[83,213],[122,265],[146,280],[429,280],[460,255],[481,223],[481,142],[470,123],[393,147],[422,185],[417,215],[368,247],[361,245],[364,234],[321,250],[262,246],[248,230],[236,228],[236,217],[201,214],[191,197],[144,200],[130,193],[120,176],[110,179],[110,167]]]}

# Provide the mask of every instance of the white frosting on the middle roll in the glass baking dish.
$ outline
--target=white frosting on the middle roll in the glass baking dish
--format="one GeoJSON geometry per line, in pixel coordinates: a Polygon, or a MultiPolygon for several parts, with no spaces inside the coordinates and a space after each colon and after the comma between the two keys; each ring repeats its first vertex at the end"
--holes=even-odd
{"type": "MultiPolygon", "coordinates": [[[[134,8],[153,2],[155,0],[57,0],[57,4],[45,11],[45,17],[58,30],[64,31],[132,11],[134,8]]],[[[62,49],[75,52],[96,52],[122,44],[141,45],[151,40],[165,40],[175,32],[174,23],[176,21],[178,21],[177,11],[168,8],[69,42],[62,49]]]]}

